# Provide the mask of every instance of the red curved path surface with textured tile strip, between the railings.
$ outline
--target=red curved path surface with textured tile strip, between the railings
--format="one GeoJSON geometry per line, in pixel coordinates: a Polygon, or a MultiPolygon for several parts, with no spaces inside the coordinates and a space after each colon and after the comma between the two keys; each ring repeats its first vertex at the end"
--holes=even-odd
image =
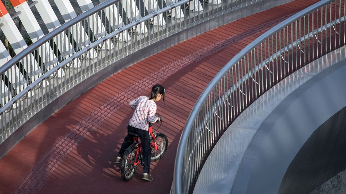
{"type": "MultiPolygon", "coordinates": [[[[169,193],[176,148],[197,98],[215,74],[270,27],[318,0],[296,0],[210,30],[113,74],[38,125],[0,159],[0,193],[169,193]],[[128,102],[166,88],[157,103],[169,147],[124,182],[113,166],[132,111],[128,102]]],[[[154,125],[157,126],[157,124],[154,125]]],[[[116,167],[116,168],[115,168],[116,167]]]]}

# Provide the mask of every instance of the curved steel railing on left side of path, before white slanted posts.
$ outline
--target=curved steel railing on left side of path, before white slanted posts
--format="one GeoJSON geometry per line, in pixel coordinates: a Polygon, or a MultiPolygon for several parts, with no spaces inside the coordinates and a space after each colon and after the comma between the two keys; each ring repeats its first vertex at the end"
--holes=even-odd
{"type": "MultiPolygon", "coordinates": [[[[161,1],[162,8],[157,11],[147,13],[145,10],[139,10],[142,15],[145,15],[144,17],[133,20],[124,19],[125,24],[118,24],[115,23],[114,17],[133,18],[127,16],[126,12],[119,11],[120,14],[113,16],[113,23],[111,23],[109,14],[111,9],[127,9],[127,5],[119,5],[119,1],[108,0],[83,12],[40,38],[0,67],[2,78],[0,91],[3,86],[9,88],[7,97],[1,96],[3,93],[0,92],[0,97],[5,99],[0,108],[0,142],[3,142],[22,123],[64,91],[72,88],[94,71],[109,65],[107,62],[126,57],[152,44],[155,39],[165,38],[195,23],[218,17],[220,13],[225,14],[258,2],[258,0],[245,3],[241,0],[231,2],[214,0],[212,2],[217,3],[204,5],[203,11],[191,12],[192,8],[200,10],[200,7],[194,5],[190,7],[190,10],[181,11],[180,9],[191,0],[176,1],[170,5],[164,5],[161,1]],[[184,18],[164,17],[173,13],[177,16],[177,12],[183,12],[184,18]],[[92,21],[97,20],[97,17],[101,18],[104,28],[95,32],[95,26],[99,24],[92,21]],[[165,18],[166,24],[162,26],[153,24],[152,21],[155,18],[161,20],[165,18]],[[79,32],[77,30],[81,29],[84,29],[86,33],[75,35],[79,32]],[[128,35],[128,32],[131,33],[128,35]],[[70,43],[71,46],[68,49],[63,48],[61,42],[70,43]],[[56,57],[51,56],[53,53],[45,55],[42,52],[44,48],[51,48],[56,57]],[[44,61],[43,58],[49,60],[44,61]],[[13,68],[15,66],[20,67],[19,72],[13,68]],[[15,77],[14,74],[20,74],[22,77],[15,77]]],[[[141,8],[143,5],[137,7],[141,8]]]]}

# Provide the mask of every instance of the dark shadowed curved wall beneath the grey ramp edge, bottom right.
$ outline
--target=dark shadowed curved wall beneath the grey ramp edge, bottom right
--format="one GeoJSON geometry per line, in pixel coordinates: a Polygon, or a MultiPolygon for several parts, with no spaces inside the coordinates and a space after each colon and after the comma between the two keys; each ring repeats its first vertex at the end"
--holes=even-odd
{"type": "Polygon", "coordinates": [[[346,169],[346,106],[312,133],[294,157],[279,193],[310,193],[346,169]]]}

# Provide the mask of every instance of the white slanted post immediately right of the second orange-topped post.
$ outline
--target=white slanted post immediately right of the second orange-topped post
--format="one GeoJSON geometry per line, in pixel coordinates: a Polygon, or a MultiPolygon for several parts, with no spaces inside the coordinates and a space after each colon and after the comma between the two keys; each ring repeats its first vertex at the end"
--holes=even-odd
{"type": "MultiPolygon", "coordinates": [[[[36,9],[40,14],[43,22],[46,24],[49,32],[52,32],[55,28],[60,26],[60,22],[56,17],[54,10],[52,9],[52,6],[49,4],[48,0],[33,0],[33,2],[36,3],[36,9]]],[[[70,40],[66,36],[65,32],[58,35],[57,38],[54,38],[54,42],[57,45],[57,48],[60,51],[62,58],[67,59],[70,55],[75,53],[74,48],[71,45],[70,40]]],[[[77,58],[73,60],[72,65],[74,68],[80,68],[81,62],[77,58]]],[[[60,72],[61,71],[59,71],[59,73],[60,72]]]]}

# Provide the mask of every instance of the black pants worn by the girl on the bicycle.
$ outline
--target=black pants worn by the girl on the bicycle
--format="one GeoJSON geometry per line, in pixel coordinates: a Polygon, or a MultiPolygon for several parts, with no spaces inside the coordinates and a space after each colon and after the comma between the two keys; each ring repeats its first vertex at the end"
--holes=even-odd
{"type": "MultiPolygon", "coordinates": [[[[150,147],[150,139],[149,132],[138,129],[136,127],[127,125],[127,132],[137,133],[140,136],[140,142],[142,143],[143,148],[143,159],[144,159],[144,167],[143,173],[148,173],[150,171],[150,158],[151,158],[151,147],[150,147]]],[[[133,138],[126,135],[124,142],[122,142],[121,148],[119,150],[118,156],[122,157],[124,155],[125,150],[133,143],[133,138]]]]}

